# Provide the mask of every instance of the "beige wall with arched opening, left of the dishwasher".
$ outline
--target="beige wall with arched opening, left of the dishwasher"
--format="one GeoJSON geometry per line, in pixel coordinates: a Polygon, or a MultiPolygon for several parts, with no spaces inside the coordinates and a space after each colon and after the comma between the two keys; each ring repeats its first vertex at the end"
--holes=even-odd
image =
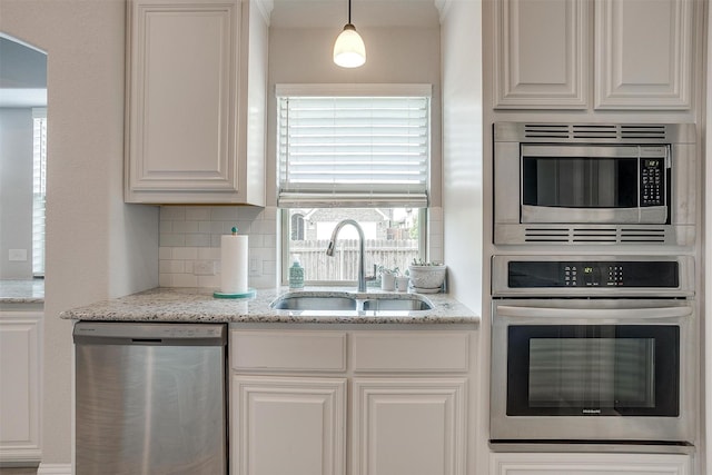
{"type": "Polygon", "coordinates": [[[0,31],[48,53],[42,464],[69,464],[71,321],[158,284],[158,209],[122,199],[123,0],[0,0],[0,31]]]}

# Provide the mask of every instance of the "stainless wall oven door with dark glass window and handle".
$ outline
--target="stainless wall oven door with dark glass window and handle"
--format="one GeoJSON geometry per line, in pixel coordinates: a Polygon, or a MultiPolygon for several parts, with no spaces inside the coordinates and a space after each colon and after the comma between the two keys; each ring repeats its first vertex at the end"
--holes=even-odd
{"type": "Polygon", "coordinates": [[[691,443],[696,319],[689,300],[493,304],[493,442],[691,443]]]}

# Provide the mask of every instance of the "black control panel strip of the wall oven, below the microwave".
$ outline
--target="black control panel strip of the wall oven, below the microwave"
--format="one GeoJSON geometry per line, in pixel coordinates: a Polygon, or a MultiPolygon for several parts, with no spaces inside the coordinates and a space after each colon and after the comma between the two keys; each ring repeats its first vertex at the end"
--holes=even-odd
{"type": "Polygon", "coordinates": [[[522,261],[508,263],[510,288],[664,287],[680,285],[676,261],[522,261]]]}

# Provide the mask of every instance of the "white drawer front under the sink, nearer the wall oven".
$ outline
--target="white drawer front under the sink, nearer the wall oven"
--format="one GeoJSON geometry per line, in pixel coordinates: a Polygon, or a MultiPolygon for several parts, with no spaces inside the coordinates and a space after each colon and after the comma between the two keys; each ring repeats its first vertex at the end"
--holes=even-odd
{"type": "Polygon", "coordinates": [[[451,331],[356,331],[355,372],[467,372],[469,334],[451,331]]]}

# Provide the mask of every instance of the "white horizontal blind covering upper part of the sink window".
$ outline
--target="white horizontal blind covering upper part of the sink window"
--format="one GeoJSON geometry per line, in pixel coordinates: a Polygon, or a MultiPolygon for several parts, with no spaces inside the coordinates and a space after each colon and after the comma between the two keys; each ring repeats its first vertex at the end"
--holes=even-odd
{"type": "Polygon", "coordinates": [[[279,207],[427,207],[429,85],[278,87],[277,101],[279,207]]]}

